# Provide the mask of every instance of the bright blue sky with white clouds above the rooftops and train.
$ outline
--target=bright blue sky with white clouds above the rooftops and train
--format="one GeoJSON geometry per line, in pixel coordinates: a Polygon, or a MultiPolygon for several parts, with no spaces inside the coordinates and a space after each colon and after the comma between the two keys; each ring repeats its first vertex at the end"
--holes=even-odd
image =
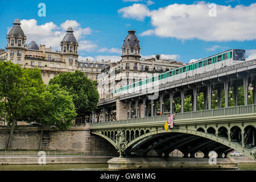
{"type": "Polygon", "coordinates": [[[65,29],[72,26],[80,43],[80,59],[119,60],[128,30],[137,31],[146,58],[160,54],[188,63],[232,48],[246,49],[249,59],[256,58],[254,1],[71,2],[1,2],[5,8],[0,11],[0,48],[6,46],[6,34],[19,18],[27,43],[35,40],[54,49],[60,49],[65,29]],[[46,4],[46,17],[38,16],[41,2],[46,4]],[[209,3],[216,3],[216,11],[209,3]]]}

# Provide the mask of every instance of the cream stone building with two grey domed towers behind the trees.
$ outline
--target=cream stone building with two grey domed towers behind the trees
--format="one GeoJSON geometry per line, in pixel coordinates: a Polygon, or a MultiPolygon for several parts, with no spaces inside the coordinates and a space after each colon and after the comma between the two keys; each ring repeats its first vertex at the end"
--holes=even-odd
{"type": "Polygon", "coordinates": [[[76,70],[84,72],[88,78],[97,81],[101,70],[109,65],[110,61],[79,61],[79,43],[73,35],[72,27],[68,28],[67,34],[60,42],[61,51],[53,51],[52,47],[38,46],[34,41],[27,46],[27,36],[20,27],[20,20],[16,19],[13,24],[6,37],[6,50],[0,51],[0,60],[11,61],[26,69],[39,68],[45,84],[61,72],[76,70]]]}

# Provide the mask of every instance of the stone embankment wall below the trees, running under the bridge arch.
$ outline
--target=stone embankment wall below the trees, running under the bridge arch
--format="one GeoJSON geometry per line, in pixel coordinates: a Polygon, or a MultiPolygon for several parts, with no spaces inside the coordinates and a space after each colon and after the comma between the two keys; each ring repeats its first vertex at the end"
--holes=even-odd
{"type": "MultiPolygon", "coordinates": [[[[0,150],[5,150],[9,138],[9,130],[0,127],[0,150]]],[[[89,124],[81,127],[72,127],[67,131],[49,132],[49,151],[100,151],[113,152],[115,148],[105,139],[96,135],[91,135],[89,124]]],[[[13,150],[38,150],[40,140],[40,129],[37,127],[17,126],[14,130],[13,150]]],[[[43,149],[44,150],[44,149],[43,149]]]]}

